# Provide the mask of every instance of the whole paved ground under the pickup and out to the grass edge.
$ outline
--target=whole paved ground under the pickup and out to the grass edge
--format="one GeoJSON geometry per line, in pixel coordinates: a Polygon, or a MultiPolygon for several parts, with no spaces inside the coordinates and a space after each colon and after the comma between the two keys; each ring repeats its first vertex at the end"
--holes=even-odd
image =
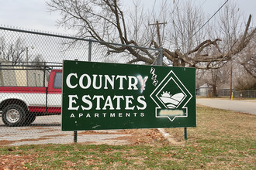
{"type": "MultiPolygon", "coordinates": [[[[125,140],[131,134],[123,130],[115,131],[78,131],[78,143],[126,145],[125,140]],[[122,139],[123,138],[123,139],[122,139]]],[[[73,131],[61,131],[61,116],[36,117],[36,121],[27,127],[5,127],[0,121],[0,145],[36,145],[36,144],[74,143],[73,131]]]]}

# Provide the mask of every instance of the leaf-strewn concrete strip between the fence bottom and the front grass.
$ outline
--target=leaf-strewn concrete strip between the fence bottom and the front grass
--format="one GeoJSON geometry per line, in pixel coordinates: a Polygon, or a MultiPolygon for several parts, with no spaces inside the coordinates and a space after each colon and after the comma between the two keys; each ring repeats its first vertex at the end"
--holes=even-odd
{"type": "MultiPolygon", "coordinates": [[[[17,133],[0,135],[1,145],[74,144],[73,131],[61,131],[60,127],[17,127],[17,133]],[[23,133],[22,133],[23,131],[23,133]],[[26,133],[29,131],[29,134],[26,133]]],[[[78,144],[128,145],[129,137],[121,130],[78,131],[78,144]]]]}

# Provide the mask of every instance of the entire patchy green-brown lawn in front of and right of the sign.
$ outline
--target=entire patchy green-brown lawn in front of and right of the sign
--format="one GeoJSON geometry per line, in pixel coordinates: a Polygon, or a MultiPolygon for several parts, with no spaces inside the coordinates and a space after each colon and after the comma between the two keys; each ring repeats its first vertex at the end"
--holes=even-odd
{"type": "MultiPolygon", "coordinates": [[[[0,169],[255,169],[256,116],[197,107],[197,127],[181,145],[23,145],[0,147],[0,169]],[[2,165],[1,162],[5,162],[2,165]]],[[[168,132],[184,141],[182,128],[168,132]]]]}

